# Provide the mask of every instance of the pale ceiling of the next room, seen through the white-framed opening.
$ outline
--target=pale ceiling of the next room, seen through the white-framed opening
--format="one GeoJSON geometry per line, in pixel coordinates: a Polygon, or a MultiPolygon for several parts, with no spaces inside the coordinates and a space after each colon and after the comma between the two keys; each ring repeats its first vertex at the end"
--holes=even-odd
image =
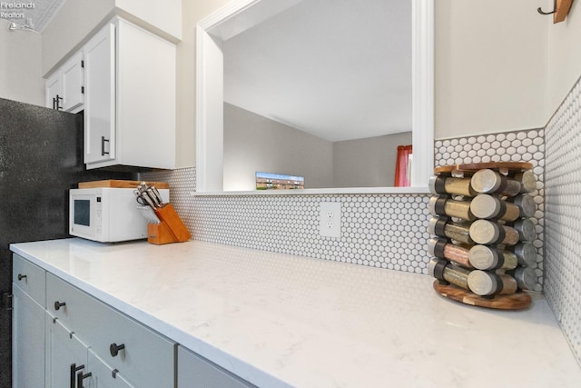
{"type": "Polygon", "coordinates": [[[411,2],[304,0],[223,42],[224,101],[329,141],[411,130],[411,2]]]}

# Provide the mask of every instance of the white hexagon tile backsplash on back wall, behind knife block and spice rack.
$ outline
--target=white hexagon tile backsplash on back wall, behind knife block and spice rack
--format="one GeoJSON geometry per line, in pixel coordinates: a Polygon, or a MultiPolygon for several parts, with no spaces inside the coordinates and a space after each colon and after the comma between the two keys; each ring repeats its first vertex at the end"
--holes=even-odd
{"type": "MultiPolygon", "coordinates": [[[[543,136],[543,130],[535,129],[435,142],[437,165],[507,160],[534,165],[537,291],[543,283],[543,136]]],[[[170,183],[172,203],[195,240],[427,274],[429,194],[194,197],[195,168],[148,173],[143,178],[170,183]],[[319,235],[319,204],[325,201],[342,205],[339,239],[319,235]]]]}

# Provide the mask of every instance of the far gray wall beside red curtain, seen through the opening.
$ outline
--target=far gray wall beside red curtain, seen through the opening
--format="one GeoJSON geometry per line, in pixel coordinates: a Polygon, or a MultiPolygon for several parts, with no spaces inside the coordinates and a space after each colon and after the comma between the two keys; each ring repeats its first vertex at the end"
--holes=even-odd
{"type": "Polygon", "coordinates": [[[398,145],[411,144],[411,132],[333,143],[334,187],[393,186],[398,145]]]}

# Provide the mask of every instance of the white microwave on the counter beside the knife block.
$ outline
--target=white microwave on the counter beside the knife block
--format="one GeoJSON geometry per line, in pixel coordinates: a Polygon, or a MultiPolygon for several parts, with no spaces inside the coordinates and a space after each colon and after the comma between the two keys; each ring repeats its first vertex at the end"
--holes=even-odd
{"type": "MultiPolygon", "coordinates": [[[[160,189],[163,202],[170,190],[160,189]]],[[[69,234],[101,243],[147,238],[147,220],[131,188],[98,187],[69,192],[69,234]]]]}

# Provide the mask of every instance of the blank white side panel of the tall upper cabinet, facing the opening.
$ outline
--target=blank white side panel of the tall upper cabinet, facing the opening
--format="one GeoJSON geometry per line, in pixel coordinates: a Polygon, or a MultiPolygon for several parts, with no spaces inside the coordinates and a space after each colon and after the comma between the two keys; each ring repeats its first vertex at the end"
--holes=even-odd
{"type": "Polygon", "coordinates": [[[118,19],[117,55],[119,162],[174,168],[175,45],[118,19]]]}

